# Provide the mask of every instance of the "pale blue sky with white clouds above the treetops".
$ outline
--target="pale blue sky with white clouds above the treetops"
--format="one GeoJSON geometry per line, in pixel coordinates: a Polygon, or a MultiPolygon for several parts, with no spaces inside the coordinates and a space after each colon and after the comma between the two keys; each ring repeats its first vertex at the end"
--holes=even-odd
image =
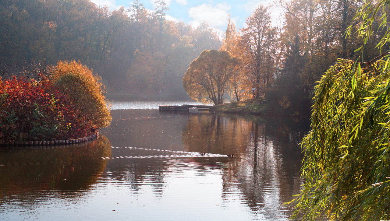
{"type": "MultiPolygon", "coordinates": [[[[107,5],[111,10],[121,6],[128,8],[132,1],[128,0],[91,0],[98,6],[107,5]]],[[[140,0],[144,7],[154,10],[155,0],[140,0]]],[[[166,18],[173,21],[183,21],[192,27],[197,27],[202,21],[207,21],[211,28],[225,32],[227,18],[230,15],[237,28],[245,27],[245,18],[250,16],[260,5],[272,4],[273,0],[165,0],[169,7],[166,18]]],[[[273,23],[276,25],[280,12],[273,12],[273,23]]]]}

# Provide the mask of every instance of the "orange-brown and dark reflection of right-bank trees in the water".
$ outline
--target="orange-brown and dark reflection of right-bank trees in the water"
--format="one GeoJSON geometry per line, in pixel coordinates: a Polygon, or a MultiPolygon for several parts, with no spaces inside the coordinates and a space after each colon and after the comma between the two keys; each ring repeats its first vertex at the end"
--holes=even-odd
{"type": "Polygon", "coordinates": [[[307,120],[192,115],[182,136],[188,151],[234,153],[237,157],[223,164],[222,197],[240,192],[254,214],[276,218],[289,214],[282,204],[302,184],[298,143],[307,131],[307,120]]]}

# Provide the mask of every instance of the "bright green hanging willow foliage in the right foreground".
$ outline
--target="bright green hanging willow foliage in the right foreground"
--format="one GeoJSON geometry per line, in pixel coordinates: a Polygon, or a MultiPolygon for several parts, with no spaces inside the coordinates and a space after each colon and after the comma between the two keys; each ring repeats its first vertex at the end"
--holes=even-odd
{"type": "MultiPolygon", "coordinates": [[[[364,43],[379,10],[384,14],[381,27],[387,27],[389,4],[367,3],[358,11],[355,19],[361,19],[358,34],[364,43]]],[[[389,39],[387,31],[378,44],[381,51],[389,39]]],[[[370,62],[339,59],[318,82],[312,131],[301,143],[305,183],[292,201],[292,218],[390,219],[389,72],[385,52],[370,62]]]]}

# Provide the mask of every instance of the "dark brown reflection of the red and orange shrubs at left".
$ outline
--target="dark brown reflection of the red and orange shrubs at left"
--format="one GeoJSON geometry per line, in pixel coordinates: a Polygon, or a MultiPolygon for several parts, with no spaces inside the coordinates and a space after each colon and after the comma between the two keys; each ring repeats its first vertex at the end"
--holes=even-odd
{"type": "Polygon", "coordinates": [[[84,144],[19,148],[0,154],[0,199],[23,193],[38,197],[50,190],[73,193],[91,187],[111,155],[110,141],[100,136],[84,144]],[[36,195],[35,195],[36,194],[36,195]]]}

